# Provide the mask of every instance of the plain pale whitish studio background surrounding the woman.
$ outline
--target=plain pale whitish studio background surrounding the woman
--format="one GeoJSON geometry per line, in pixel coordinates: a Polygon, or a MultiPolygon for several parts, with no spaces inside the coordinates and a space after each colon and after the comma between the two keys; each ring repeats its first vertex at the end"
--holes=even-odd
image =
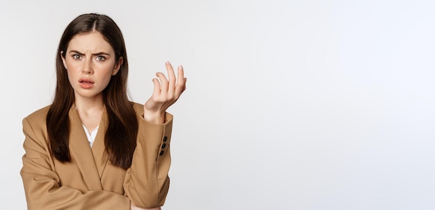
{"type": "Polygon", "coordinates": [[[434,1],[1,1],[0,209],[60,35],[122,29],[133,100],[183,64],[164,209],[435,209],[434,1]]]}

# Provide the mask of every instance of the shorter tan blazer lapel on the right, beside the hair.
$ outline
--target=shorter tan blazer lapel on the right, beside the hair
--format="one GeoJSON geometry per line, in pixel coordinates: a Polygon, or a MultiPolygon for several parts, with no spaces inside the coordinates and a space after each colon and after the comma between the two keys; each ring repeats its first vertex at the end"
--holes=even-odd
{"type": "Polygon", "coordinates": [[[106,152],[106,146],[104,145],[104,134],[106,133],[108,123],[108,116],[106,109],[104,109],[101,115],[101,122],[99,123],[99,128],[95,141],[92,144],[92,155],[94,156],[95,165],[97,166],[99,178],[103,175],[104,168],[106,168],[108,155],[106,152]]]}

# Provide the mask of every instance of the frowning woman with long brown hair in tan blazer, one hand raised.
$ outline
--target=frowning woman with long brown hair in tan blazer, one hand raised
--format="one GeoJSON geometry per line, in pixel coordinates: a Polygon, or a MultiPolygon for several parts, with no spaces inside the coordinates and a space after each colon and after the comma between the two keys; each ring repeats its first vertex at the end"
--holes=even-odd
{"type": "Polygon", "coordinates": [[[186,89],[169,62],[145,105],[129,101],[120,28],[76,17],[60,39],[53,103],[23,120],[28,209],[160,209],[169,188],[172,115],[186,89]]]}

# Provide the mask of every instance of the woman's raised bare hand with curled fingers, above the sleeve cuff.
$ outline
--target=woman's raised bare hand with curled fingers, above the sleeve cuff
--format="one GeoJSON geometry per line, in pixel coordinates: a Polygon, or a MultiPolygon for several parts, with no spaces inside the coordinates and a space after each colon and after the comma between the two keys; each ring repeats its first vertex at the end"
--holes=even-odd
{"type": "Polygon", "coordinates": [[[186,89],[183,67],[178,67],[177,77],[170,62],[166,62],[167,76],[157,72],[153,79],[154,91],[144,105],[144,119],[150,123],[162,124],[165,121],[165,112],[173,105],[186,89]]]}

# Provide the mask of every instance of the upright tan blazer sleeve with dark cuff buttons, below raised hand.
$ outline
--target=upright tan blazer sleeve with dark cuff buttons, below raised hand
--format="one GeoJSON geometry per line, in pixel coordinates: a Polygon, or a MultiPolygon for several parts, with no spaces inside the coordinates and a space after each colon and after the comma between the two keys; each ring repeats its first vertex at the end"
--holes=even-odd
{"type": "Polygon", "coordinates": [[[138,141],[131,168],[126,171],[124,191],[137,207],[161,207],[169,189],[172,115],[166,113],[163,125],[148,123],[142,116],[138,119],[138,141]]]}

